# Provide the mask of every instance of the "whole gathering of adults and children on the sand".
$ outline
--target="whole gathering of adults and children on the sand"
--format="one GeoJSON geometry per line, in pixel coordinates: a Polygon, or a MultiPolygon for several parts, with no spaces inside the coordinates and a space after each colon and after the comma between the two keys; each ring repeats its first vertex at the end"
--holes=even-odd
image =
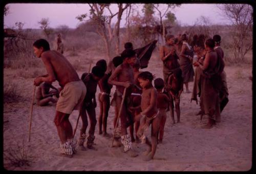
{"type": "MultiPolygon", "coordinates": [[[[217,42],[220,43],[220,40],[217,42]]],[[[49,101],[57,102],[54,123],[61,141],[61,153],[68,157],[77,153],[73,129],[69,121],[70,114],[77,109],[82,120],[78,140],[79,149],[84,150],[86,147],[95,149],[93,146],[97,123],[95,94],[98,85],[100,89],[98,94],[98,134],[110,137],[106,131],[107,118],[110,106],[114,106],[113,145],[123,145],[121,148],[123,153],[136,157],[138,154],[132,148],[132,142],[145,143],[148,149],[143,159],[145,161],[153,159],[157,144],[163,141],[168,110],[170,110],[172,122],[175,123],[174,105],[177,122],[180,122],[180,96],[183,92],[183,83],[185,83],[186,92],[189,93],[188,82],[194,80],[192,64],[197,67],[196,76],[198,77],[194,82],[196,83],[194,88],[196,86],[197,89],[193,91],[196,91],[196,97],[200,96],[200,114],[209,115],[209,124],[205,128],[212,127],[214,125],[212,120],[218,118],[220,121],[220,105],[228,95],[226,85],[223,85],[225,72],[223,72],[223,56],[219,56],[221,48],[218,46],[217,52],[214,47],[215,41],[208,39],[205,41],[206,53],[204,55],[202,49],[195,48],[194,50],[200,58],[193,63],[193,49],[188,45],[186,35],[181,35],[178,41],[174,35],[166,35],[166,45],[160,49],[160,58],[163,61],[163,79],[155,79],[155,75],[151,72],[139,71],[140,61],[136,57],[133,45],[131,42],[126,42],[121,55],[114,57],[108,66],[106,61],[101,59],[97,61],[91,73],[83,73],[79,78],[71,63],[62,54],[50,50],[47,40],[36,40],[33,44],[34,53],[42,59],[48,73],[34,79],[34,84],[40,85],[37,103],[45,105],[49,101]],[[198,75],[198,73],[200,74],[198,75]],[[59,89],[51,85],[55,80],[59,82],[59,89]],[[220,85],[217,85],[217,82],[220,82],[220,85]],[[116,86],[116,90],[110,100],[113,85],[116,86]],[[223,92],[224,87],[226,93],[223,92]],[[53,88],[51,92],[49,92],[50,88],[53,88]],[[47,90],[49,94],[43,94],[43,90],[47,90]],[[53,95],[57,95],[58,99],[54,99],[53,95]],[[44,98],[43,101],[42,98],[44,98]],[[86,134],[87,115],[90,120],[88,136],[86,134]],[[146,130],[150,125],[152,125],[151,141],[146,136],[146,130]],[[130,127],[130,134],[127,133],[127,127],[130,127]]]]}

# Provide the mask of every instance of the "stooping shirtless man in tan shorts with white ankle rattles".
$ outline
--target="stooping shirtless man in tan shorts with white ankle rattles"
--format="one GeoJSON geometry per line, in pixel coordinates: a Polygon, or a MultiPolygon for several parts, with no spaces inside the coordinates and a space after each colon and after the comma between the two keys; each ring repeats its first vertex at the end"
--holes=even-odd
{"type": "Polygon", "coordinates": [[[69,116],[73,110],[79,109],[86,96],[86,86],[79,79],[71,63],[59,52],[50,50],[47,40],[36,40],[33,49],[35,55],[44,62],[48,73],[36,77],[34,84],[38,86],[44,81],[53,82],[57,80],[61,86],[54,123],[61,141],[61,153],[72,157],[75,153],[75,144],[69,116]]]}

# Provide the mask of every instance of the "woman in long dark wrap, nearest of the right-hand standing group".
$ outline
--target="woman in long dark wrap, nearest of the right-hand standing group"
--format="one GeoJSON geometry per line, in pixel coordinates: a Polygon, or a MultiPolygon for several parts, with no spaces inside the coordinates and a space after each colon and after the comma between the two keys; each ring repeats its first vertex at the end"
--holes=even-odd
{"type": "MultiPolygon", "coordinates": [[[[196,61],[194,66],[202,69],[200,77],[200,105],[203,113],[208,115],[208,123],[202,128],[211,128],[220,118],[219,92],[222,86],[221,73],[223,71],[222,58],[214,50],[215,42],[212,39],[205,41],[206,55],[203,63],[196,61]]],[[[202,120],[202,117],[201,117],[202,120]]]]}

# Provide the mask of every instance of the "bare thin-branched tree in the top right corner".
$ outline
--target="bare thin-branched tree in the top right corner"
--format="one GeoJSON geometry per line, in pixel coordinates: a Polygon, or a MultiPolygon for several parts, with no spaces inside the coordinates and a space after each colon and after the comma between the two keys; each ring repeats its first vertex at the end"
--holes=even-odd
{"type": "Polygon", "coordinates": [[[234,58],[243,61],[245,54],[252,49],[252,7],[248,4],[222,4],[217,8],[232,22],[234,58]]]}

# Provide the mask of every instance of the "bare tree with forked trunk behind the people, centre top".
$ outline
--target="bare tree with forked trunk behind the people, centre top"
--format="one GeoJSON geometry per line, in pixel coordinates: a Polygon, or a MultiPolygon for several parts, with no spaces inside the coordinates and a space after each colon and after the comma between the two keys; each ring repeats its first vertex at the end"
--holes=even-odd
{"type": "MultiPolygon", "coordinates": [[[[94,21],[97,28],[97,33],[102,37],[105,43],[106,56],[111,59],[111,44],[116,37],[116,54],[119,53],[119,30],[120,30],[120,20],[123,14],[123,11],[127,9],[130,4],[117,4],[118,12],[114,12],[110,9],[111,4],[89,4],[90,6],[90,20],[94,21]],[[105,14],[105,13],[109,14],[105,14]],[[112,19],[117,16],[117,21],[112,27],[112,19]]],[[[81,14],[76,18],[80,21],[83,21],[87,18],[87,14],[81,14]]]]}

